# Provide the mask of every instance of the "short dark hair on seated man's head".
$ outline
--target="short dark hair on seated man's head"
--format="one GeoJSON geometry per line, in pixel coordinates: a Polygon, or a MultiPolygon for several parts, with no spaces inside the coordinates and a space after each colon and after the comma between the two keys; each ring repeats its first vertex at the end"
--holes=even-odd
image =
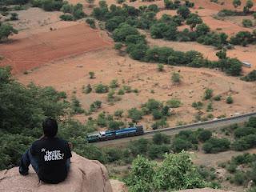
{"type": "Polygon", "coordinates": [[[54,138],[58,132],[58,123],[54,118],[46,118],[46,120],[42,122],[42,129],[46,137],[54,138]]]}

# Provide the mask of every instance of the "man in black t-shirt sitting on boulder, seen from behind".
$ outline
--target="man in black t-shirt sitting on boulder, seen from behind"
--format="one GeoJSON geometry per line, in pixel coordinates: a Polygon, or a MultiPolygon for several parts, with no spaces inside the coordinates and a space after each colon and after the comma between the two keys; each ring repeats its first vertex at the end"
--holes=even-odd
{"type": "Polygon", "coordinates": [[[28,174],[30,164],[38,174],[39,180],[46,183],[58,183],[65,180],[70,169],[72,157],[69,143],[55,137],[58,124],[52,118],[42,122],[44,135],[35,141],[22,155],[19,173],[28,174]]]}

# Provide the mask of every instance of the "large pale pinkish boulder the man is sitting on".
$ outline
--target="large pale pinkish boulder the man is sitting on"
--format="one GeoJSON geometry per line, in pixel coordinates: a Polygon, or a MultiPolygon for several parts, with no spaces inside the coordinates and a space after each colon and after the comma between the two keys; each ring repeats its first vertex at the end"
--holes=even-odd
{"type": "Polygon", "coordinates": [[[30,167],[30,174],[22,176],[18,167],[0,172],[1,192],[113,192],[106,167],[98,161],[72,153],[70,173],[58,185],[38,182],[30,167]]]}

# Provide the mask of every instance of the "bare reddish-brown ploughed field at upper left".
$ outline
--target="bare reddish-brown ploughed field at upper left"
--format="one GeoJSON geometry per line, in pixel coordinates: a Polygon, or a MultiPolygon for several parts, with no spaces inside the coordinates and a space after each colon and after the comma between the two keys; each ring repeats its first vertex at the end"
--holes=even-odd
{"type": "MultiPolygon", "coordinates": [[[[105,38],[106,39],[106,38],[105,38]]],[[[0,55],[4,57],[0,66],[10,65],[13,73],[42,66],[46,62],[99,50],[112,46],[112,42],[101,37],[100,31],[92,30],[86,24],[68,26],[29,38],[13,38],[10,43],[0,45],[0,55]]]]}

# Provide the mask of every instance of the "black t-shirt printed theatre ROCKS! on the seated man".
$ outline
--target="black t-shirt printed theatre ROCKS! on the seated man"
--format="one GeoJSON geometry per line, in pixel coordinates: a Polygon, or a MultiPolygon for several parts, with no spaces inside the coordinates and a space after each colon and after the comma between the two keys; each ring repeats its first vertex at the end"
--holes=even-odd
{"type": "Polygon", "coordinates": [[[68,142],[60,138],[35,141],[30,153],[38,161],[38,177],[47,183],[58,183],[67,176],[66,160],[72,157],[68,142]]]}

